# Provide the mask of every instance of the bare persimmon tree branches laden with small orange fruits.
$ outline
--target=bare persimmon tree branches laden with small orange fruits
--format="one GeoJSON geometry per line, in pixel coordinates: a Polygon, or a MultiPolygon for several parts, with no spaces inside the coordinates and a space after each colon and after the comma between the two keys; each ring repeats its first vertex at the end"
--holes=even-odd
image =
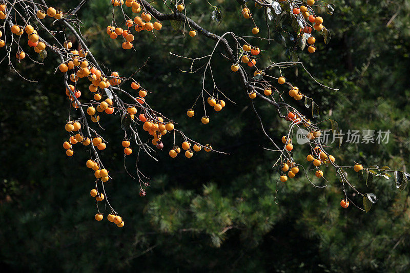
{"type": "MultiPolygon", "coordinates": [[[[108,0],[107,0],[108,1],[108,0]]],[[[181,151],[185,157],[191,158],[195,153],[204,150],[215,152],[216,154],[226,154],[219,151],[212,143],[199,143],[189,137],[187,132],[182,132],[177,120],[167,116],[166,110],[153,109],[150,106],[150,88],[145,83],[139,82],[137,73],[144,69],[145,64],[140,64],[140,68],[130,75],[119,75],[113,68],[102,65],[104,60],[97,60],[87,46],[87,41],[81,34],[81,20],[77,17],[77,11],[85,4],[86,0],[80,1],[78,6],[72,11],[61,11],[58,7],[51,7],[45,1],[35,0],[14,0],[3,1],[0,5],[0,47],[4,55],[1,60],[2,65],[8,65],[10,69],[15,69],[15,62],[36,61],[33,54],[39,54],[43,59],[52,53],[59,59],[59,66],[55,69],[57,76],[61,77],[63,84],[61,89],[65,89],[65,95],[70,103],[68,119],[65,130],[68,132],[67,140],[63,143],[67,156],[74,156],[75,149],[79,143],[84,145],[83,149],[90,152],[90,158],[86,160],[86,165],[94,172],[95,187],[90,191],[90,195],[96,199],[97,213],[95,219],[103,219],[103,212],[99,209],[99,204],[105,202],[108,207],[108,220],[117,226],[124,226],[120,214],[115,211],[109,202],[109,194],[106,193],[104,184],[109,183],[109,170],[104,167],[104,158],[99,156],[99,151],[111,145],[104,139],[104,123],[108,118],[116,118],[120,121],[120,128],[124,131],[124,139],[118,139],[117,145],[124,149],[125,157],[136,158],[136,170],[127,170],[131,177],[136,179],[140,185],[141,197],[146,195],[149,182],[143,170],[138,168],[138,161],[142,154],[152,160],[155,158],[156,150],[167,152],[171,158],[178,158],[181,151]],[[62,26],[62,30],[56,30],[56,24],[62,26]],[[33,48],[33,52],[25,52],[25,44],[33,48]],[[73,50],[74,44],[78,50],[73,50]],[[89,80],[88,90],[79,90],[78,81],[89,80]],[[63,87],[64,86],[64,87],[63,87]],[[93,99],[84,100],[81,92],[91,92],[93,99]],[[107,115],[114,115],[109,117],[107,115]],[[180,145],[180,146],[179,146],[180,145]]],[[[212,5],[212,19],[217,23],[223,19],[223,11],[212,5]]],[[[322,37],[324,43],[330,41],[331,32],[323,25],[323,18],[319,12],[333,14],[334,6],[326,1],[293,1],[293,0],[237,0],[232,1],[232,6],[237,9],[237,16],[240,19],[249,21],[248,33],[226,32],[221,35],[214,31],[202,28],[197,22],[190,18],[190,3],[185,0],[164,0],[163,3],[149,3],[145,0],[113,0],[112,10],[107,10],[107,14],[112,14],[112,20],[106,27],[106,33],[110,38],[119,41],[118,49],[132,51],[136,50],[137,42],[135,37],[138,32],[152,32],[153,41],[157,39],[157,31],[162,29],[163,24],[170,24],[175,31],[179,31],[186,39],[209,39],[214,41],[213,48],[200,48],[200,51],[209,51],[208,54],[189,58],[182,55],[172,54],[175,58],[181,58],[187,63],[187,68],[181,68],[182,73],[202,73],[202,81],[198,83],[198,94],[192,106],[187,106],[188,118],[197,118],[201,123],[212,122],[210,111],[222,112],[223,108],[229,107],[235,99],[249,100],[250,106],[255,114],[255,121],[260,124],[263,134],[272,143],[272,152],[278,154],[278,159],[273,162],[273,167],[278,170],[277,187],[279,183],[289,182],[298,174],[309,180],[315,187],[325,187],[325,168],[334,168],[340,177],[344,196],[341,197],[341,206],[347,208],[352,202],[356,207],[368,212],[372,203],[377,202],[373,193],[362,193],[347,178],[346,170],[352,169],[358,173],[360,180],[366,184],[371,183],[374,177],[384,177],[389,179],[394,176],[396,187],[403,190],[410,178],[408,173],[390,170],[388,166],[379,167],[362,166],[360,162],[347,162],[342,165],[335,160],[337,149],[326,143],[319,141],[323,132],[332,131],[339,133],[338,123],[335,120],[316,120],[319,114],[320,101],[303,94],[302,90],[296,86],[297,83],[286,80],[286,71],[299,67],[306,72],[316,85],[324,88],[334,89],[324,86],[318,82],[302,62],[297,54],[306,54],[306,49],[310,54],[316,52],[316,39],[322,37]],[[151,5],[153,4],[153,5],[151,5]],[[262,12],[257,12],[258,10],[262,12]],[[161,11],[160,11],[161,10],[161,11]],[[254,14],[262,14],[265,25],[257,26],[254,14]],[[258,63],[260,54],[264,54],[263,48],[257,47],[258,40],[276,41],[286,43],[286,36],[290,40],[286,49],[286,56],[289,61],[275,62],[275,56],[269,56],[271,63],[268,66],[261,66],[258,63]],[[222,50],[220,53],[217,50],[222,50]],[[298,53],[300,52],[300,53],[298,53]],[[221,90],[215,80],[211,60],[223,58],[230,62],[231,73],[236,73],[243,93],[230,94],[229,90],[221,90]],[[291,100],[296,100],[296,103],[291,100]],[[268,133],[263,125],[258,113],[258,106],[261,103],[269,104],[272,112],[277,118],[285,119],[289,123],[288,130],[281,134],[281,142],[275,141],[277,137],[268,133]],[[295,106],[293,106],[295,105],[295,106]],[[311,108],[311,116],[302,114],[302,108],[311,108]],[[198,112],[200,114],[198,114],[198,112]],[[304,128],[306,132],[306,149],[310,152],[306,156],[305,162],[295,162],[293,151],[302,149],[295,147],[292,143],[296,131],[304,128]],[[309,165],[308,165],[309,164],[309,165]],[[310,173],[315,174],[318,181],[313,179],[310,173]],[[354,202],[352,196],[346,193],[345,188],[351,190],[362,197],[363,208],[354,202]]],[[[260,15],[259,15],[260,16],[260,15]]],[[[105,26],[104,26],[105,27],[105,26]]],[[[198,51],[199,51],[198,50],[198,51]]],[[[308,53],[308,54],[309,54],[308,53]]],[[[115,51],[110,53],[115,55],[115,51]]],[[[29,80],[24,75],[19,76],[23,80],[29,80]]],[[[234,84],[234,83],[233,83],[234,84]]],[[[182,110],[181,111],[185,111],[182,110]]],[[[174,159],[170,159],[174,160],[174,159]]],[[[177,159],[176,159],[177,160],[177,159]]],[[[361,188],[361,186],[360,186],[361,188]]]]}

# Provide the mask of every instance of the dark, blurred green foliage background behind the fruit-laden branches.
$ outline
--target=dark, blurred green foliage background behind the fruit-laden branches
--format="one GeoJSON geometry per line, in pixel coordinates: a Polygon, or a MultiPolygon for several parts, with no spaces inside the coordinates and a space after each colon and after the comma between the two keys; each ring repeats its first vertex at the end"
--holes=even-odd
{"type": "MultiPolygon", "coordinates": [[[[77,3],[47,1],[63,11],[77,3]]],[[[186,10],[216,34],[234,30],[237,35],[251,35],[251,22],[240,17],[236,1],[210,3],[222,11],[220,25],[212,20],[214,8],[206,1],[192,1],[186,10]]],[[[315,99],[320,107],[316,120],[335,119],[343,131],[391,131],[387,144],[344,143],[340,149],[334,147],[331,151],[337,163],[353,165],[355,160],[366,166],[406,170],[410,148],[410,1],[341,0],[334,4],[334,15],[324,9],[320,12],[323,25],[332,34],[329,45],[316,34],[316,52],[297,53],[318,81],[340,90],[318,86],[301,69],[283,73],[315,99]]],[[[162,1],[153,5],[166,12],[162,1]]],[[[249,6],[259,18],[260,35],[266,36],[263,9],[254,8],[251,2],[249,6]]],[[[109,144],[100,155],[114,178],[106,183],[106,191],[125,226],[108,223],[107,214],[97,222],[95,200],[89,194],[94,177],[85,164],[89,153],[78,146],[75,155],[68,158],[62,146],[67,138],[64,124],[69,101],[63,77],[54,74],[56,56],[48,52],[44,66],[28,59],[16,62],[18,72],[36,83],[18,77],[3,62],[2,268],[38,272],[410,270],[408,188],[399,192],[392,178],[377,178],[366,187],[349,172],[359,191],[375,193],[379,199],[370,212],[364,213],[353,205],[341,208],[341,183],[330,169],[324,171],[330,182],[325,188],[313,187],[302,175],[277,187],[279,174],[272,165],[278,155],[263,149],[272,146],[262,135],[249,100],[230,70],[231,64],[220,55],[212,62],[215,80],[236,104],[227,102],[223,111],[210,111],[208,125],[200,122],[200,104],[194,118],[186,117],[186,110],[201,90],[201,73],[179,72],[188,70],[190,62],[169,52],[200,57],[212,51],[214,41],[200,35],[184,38],[181,31],[163,22],[162,30],[155,32],[156,38],[152,33],[136,33],[135,51],[124,51],[119,40],[106,34],[112,19],[110,1],[88,1],[78,17],[83,22],[81,32],[100,64],[128,76],[149,57],[135,78],[152,92],[147,97],[151,106],[176,120],[188,136],[230,155],[200,152],[191,159],[172,159],[168,156],[172,140],[165,136],[165,149],[156,154],[159,162],[144,155],[140,158],[141,170],[151,178],[147,196],[142,198],[138,182],[124,170],[120,118],[104,115],[100,122],[109,144]]],[[[57,23],[55,28],[62,27],[57,23]]],[[[265,50],[259,64],[267,66],[269,59],[287,60],[286,48],[275,41],[253,39],[252,43],[265,50]]],[[[32,49],[25,51],[41,61],[32,49]]],[[[0,49],[0,57],[4,54],[0,49]]],[[[83,101],[91,98],[87,82],[79,81],[83,101]]],[[[311,117],[302,102],[290,103],[311,117]]],[[[256,99],[255,106],[265,128],[280,141],[286,123],[261,100],[256,99]]],[[[148,135],[144,137],[148,140],[148,135]]],[[[296,161],[305,162],[309,150],[301,145],[294,150],[296,161]]],[[[125,160],[134,174],[135,159],[134,155],[125,160]]],[[[323,185],[317,178],[313,181],[323,185]]],[[[361,198],[352,194],[349,190],[348,195],[361,206],[361,198]]]]}

